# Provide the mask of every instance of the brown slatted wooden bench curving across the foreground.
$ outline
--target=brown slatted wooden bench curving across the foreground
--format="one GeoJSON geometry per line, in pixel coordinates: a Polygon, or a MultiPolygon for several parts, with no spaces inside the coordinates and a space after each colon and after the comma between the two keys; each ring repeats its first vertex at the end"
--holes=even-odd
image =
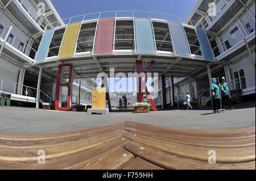
{"type": "Polygon", "coordinates": [[[0,169],[255,169],[255,127],[208,131],[126,121],[68,133],[0,133],[0,169]],[[208,162],[210,150],[216,164],[208,162]]]}

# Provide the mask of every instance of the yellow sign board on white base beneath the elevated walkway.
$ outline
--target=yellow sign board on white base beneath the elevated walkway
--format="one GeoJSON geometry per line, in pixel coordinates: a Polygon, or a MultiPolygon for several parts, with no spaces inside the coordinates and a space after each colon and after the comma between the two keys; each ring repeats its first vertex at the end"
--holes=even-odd
{"type": "Polygon", "coordinates": [[[106,88],[93,88],[92,90],[92,109],[106,108],[106,88]]]}

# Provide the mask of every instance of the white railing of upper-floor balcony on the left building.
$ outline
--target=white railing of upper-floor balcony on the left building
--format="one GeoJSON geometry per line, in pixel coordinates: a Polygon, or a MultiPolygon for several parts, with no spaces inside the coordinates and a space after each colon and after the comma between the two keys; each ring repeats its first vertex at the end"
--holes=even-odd
{"type": "MultiPolygon", "coordinates": [[[[0,33],[0,38],[4,40],[8,31],[9,29],[3,26],[3,30],[0,33]]],[[[21,53],[26,54],[27,56],[30,56],[32,59],[34,59],[37,51],[27,43],[24,43],[24,40],[20,39],[20,37],[16,36],[13,32],[11,32],[11,35],[13,35],[13,38],[11,39],[11,37],[9,36],[9,39],[7,39],[6,44],[11,45],[11,47],[19,50],[21,53]]]]}

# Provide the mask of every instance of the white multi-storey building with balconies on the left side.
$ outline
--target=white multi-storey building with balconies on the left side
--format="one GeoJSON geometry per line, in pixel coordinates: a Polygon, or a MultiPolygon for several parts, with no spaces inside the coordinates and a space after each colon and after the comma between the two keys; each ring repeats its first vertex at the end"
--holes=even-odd
{"type": "MultiPolygon", "coordinates": [[[[64,24],[49,0],[0,1],[0,92],[12,94],[16,101],[36,102],[39,67],[34,65],[34,58],[47,24],[55,28],[58,24],[54,22],[64,24]]],[[[56,74],[43,70],[41,103],[55,100],[56,75],[57,69],[56,74]]],[[[81,80],[81,104],[91,103],[91,90],[96,85],[94,79],[81,80]]],[[[75,79],[72,102],[78,99],[79,80],[75,79]]]]}

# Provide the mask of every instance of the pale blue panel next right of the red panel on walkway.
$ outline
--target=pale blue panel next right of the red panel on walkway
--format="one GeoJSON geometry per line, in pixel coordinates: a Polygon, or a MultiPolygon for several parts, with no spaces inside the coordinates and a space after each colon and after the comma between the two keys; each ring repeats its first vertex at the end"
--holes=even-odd
{"type": "Polygon", "coordinates": [[[137,53],[156,53],[151,20],[135,18],[134,22],[137,53]]]}

